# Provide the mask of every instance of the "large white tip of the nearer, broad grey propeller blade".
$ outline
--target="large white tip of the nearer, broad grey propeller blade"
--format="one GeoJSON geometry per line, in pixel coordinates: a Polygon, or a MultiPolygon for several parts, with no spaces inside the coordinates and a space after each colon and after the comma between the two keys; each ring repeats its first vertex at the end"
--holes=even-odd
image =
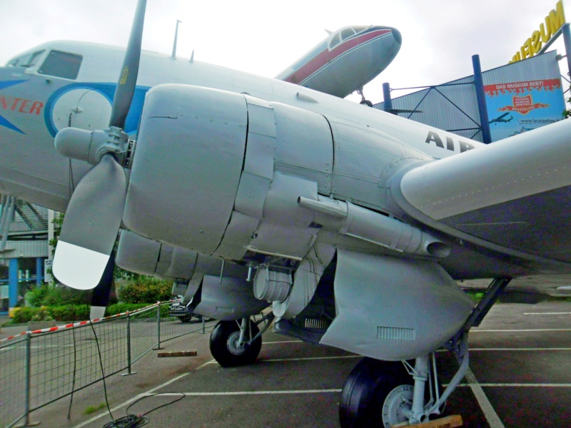
{"type": "Polygon", "coordinates": [[[108,254],[59,240],[54,256],[54,276],[64,285],[91,290],[101,280],[109,260],[108,254]]]}

